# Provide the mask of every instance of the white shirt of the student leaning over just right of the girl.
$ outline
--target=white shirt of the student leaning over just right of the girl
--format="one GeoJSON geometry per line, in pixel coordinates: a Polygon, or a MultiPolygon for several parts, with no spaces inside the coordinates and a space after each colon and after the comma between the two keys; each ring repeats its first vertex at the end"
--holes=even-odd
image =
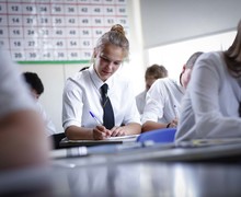
{"type": "Polygon", "coordinates": [[[184,89],[170,78],[158,79],[151,85],[146,96],[146,105],[141,123],[171,123],[180,114],[184,89]]]}

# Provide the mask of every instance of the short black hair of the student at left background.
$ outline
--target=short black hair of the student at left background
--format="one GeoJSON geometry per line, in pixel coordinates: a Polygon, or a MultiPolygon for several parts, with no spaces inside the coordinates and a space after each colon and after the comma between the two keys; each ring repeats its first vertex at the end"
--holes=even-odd
{"type": "Polygon", "coordinates": [[[41,78],[38,78],[37,73],[35,72],[24,72],[23,77],[26,81],[26,83],[37,92],[37,94],[42,94],[44,92],[44,85],[41,81],[41,78]]]}

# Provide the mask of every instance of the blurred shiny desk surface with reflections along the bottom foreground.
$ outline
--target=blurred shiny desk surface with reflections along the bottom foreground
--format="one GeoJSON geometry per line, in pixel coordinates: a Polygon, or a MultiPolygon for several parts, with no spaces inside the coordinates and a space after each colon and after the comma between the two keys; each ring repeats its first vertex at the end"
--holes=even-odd
{"type": "Polygon", "coordinates": [[[4,176],[0,177],[0,196],[213,197],[241,195],[240,163],[154,161],[85,167],[55,166],[44,174],[31,176],[24,172],[16,174],[16,177],[12,182],[4,176]]]}

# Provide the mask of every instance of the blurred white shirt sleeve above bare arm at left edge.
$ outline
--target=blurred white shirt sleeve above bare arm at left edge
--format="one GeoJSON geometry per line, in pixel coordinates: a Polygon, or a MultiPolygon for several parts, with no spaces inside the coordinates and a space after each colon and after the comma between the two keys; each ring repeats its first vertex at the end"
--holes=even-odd
{"type": "Polygon", "coordinates": [[[0,48],[0,117],[21,109],[34,109],[34,106],[18,65],[0,48]]]}

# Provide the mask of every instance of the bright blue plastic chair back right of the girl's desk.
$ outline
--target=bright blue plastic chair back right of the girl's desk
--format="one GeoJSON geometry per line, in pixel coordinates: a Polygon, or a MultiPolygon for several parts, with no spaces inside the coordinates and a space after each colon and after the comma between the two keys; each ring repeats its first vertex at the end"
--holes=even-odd
{"type": "Polygon", "coordinates": [[[156,129],[141,134],[137,142],[153,141],[156,143],[169,143],[175,139],[176,128],[156,129]]]}

